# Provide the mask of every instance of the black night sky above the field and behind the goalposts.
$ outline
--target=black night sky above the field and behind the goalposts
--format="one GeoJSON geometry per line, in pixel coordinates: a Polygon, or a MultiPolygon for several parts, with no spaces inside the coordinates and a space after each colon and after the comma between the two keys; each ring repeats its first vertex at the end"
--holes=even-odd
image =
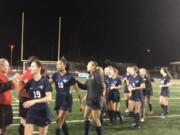
{"type": "Polygon", "coordinates": [[[167,65],[180,60],[180,0],[1,0],[0,57],[20,59],[21,13],[25,13],[24,59],[61,55],[167,65]],[[146,50],[150,49],[150,53],[146,50]]]}

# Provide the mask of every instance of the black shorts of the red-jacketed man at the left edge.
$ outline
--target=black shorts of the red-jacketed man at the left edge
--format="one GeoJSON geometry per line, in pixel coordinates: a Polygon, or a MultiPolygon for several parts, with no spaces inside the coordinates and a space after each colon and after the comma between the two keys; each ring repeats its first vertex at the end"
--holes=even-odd
{"type": "Polygon", "coordinates": [[[11,105],[0,105],[0,128],[4,128],[13,121],[11,105]]]}

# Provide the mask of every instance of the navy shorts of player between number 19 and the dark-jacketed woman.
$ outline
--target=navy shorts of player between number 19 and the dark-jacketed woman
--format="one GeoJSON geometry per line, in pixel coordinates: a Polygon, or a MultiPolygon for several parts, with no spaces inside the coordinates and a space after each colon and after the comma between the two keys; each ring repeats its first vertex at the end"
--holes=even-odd
{"type": "Polygon", "coordinates": [[[73,100],[71,94],[58,95],[56,97],[55,110],[56,111],[63,110],[63,111],[71,112],[72,104],[73,104],[73,100]]]}

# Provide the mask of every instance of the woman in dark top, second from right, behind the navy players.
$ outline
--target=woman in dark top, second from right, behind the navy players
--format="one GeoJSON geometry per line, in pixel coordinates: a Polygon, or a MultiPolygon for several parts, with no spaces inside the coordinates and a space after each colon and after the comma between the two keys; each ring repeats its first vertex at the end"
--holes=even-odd
{"type": "Polygon", "coordinates": [[[151,96],[153,94],[153,89],[152,89],[152,84],[151,84],[151,78],[150,78],[148,71],[145,68],[141,68],[139,70],[139,73],[145,83],[145,89],[143,89],[143,99],[142,99],[142,108],[141,108],[141,122],[144,122],[146,99],[147,99],[147,103],[148,103],[148,107],[149,107],[149,111],[150,111],[148,114],[153,114],[152,104],[151,104],[151,96]]]}

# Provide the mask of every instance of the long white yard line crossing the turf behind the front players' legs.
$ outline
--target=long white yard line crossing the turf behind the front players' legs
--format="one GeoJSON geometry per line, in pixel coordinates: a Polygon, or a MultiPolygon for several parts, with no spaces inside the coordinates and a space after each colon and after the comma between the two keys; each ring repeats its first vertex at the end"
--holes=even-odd
{"type": "MultiPolygon", "coordinates": [[[[176,117],[180,117],[179,114],[172,114],[172,115],[168,115],[166,116],[166,118],[176,118],[176,117]]],[[[146,116],[145,118],[161,118],[161,116],[146,116]]],[[[125,119],[128,119],[128,118],[125,118],[125,119]]],[[[105,119],[106,120],[106,119],[105,119]]],[[[82,123],[84,122],[84,120],[68,120],[66,121],[67,123],[82,123]]],[[[51,124],[55,124],[56,121],[53,121],[51,124]]],[[[16,127],[16,126],[19,126],[19,124],[11,124],[10,125],[11,127],[16,127]]]]}

